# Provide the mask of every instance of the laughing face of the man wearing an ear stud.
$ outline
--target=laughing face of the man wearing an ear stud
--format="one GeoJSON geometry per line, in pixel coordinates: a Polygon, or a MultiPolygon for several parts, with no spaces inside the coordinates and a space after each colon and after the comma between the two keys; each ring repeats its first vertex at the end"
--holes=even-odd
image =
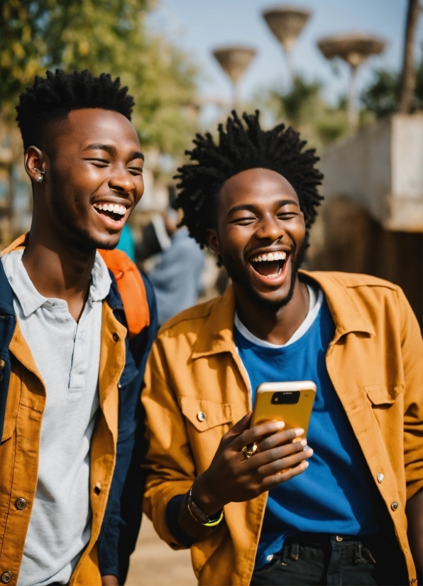
{"type": "Polygon", "coordinates": [[[26,153],[28,172],[45,170],[35,182],[34,219],[78,248],[114,248],[144,191],[131,122],[115,111],[73,110],[51,125],[41,148],[26,153]]]}

